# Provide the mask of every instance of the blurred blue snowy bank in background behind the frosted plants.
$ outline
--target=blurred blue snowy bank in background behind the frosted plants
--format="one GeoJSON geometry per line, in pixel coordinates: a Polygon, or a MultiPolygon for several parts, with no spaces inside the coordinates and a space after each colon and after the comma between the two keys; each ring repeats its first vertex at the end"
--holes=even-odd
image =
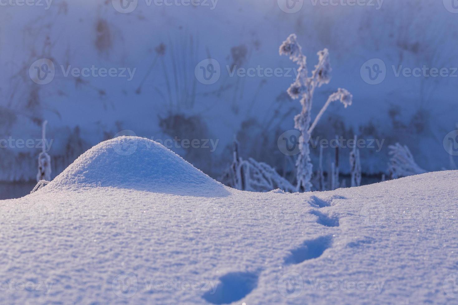
{"type": "MultiPolygon", "coordinates": [[[[365,140],[362,172],[378,175],[376,181],[387,172],[388,146],[397,142],[407,145],[426,171],[454,169],[443,140],[458,129],[458,15],[451,12],[456,0],[289,0],[300,8],[294,13],[280,5],[286,0],[219,0],[215,6],[206,0],[198,2],[208,5],[197,6],[140,0],[132,1],[138,5],[128,14],[114,8],[120,0],[55,0],[49,9],[45,0],[27,1],[44,5],[2,5],[0,10],[0,145],[15,140],[2,150],[0,187],[35,180],[36,140],[44,120],[52,177],[122,130],[164,142],[199,140],[197,149],[180,143],[168,148],[214,179],[232,161],[234,135],[245,160],[265,162],[280,174],[291,171],[289,157],[277,147],[301,110],[286,93],[298,66],[278,54],[291,33],[310,71],[316,52],[327,48],[330,54],[332,80],[315,92],[312,118],[339,87],[354,96],[348,109],[338,102],[329,106],[312,134],[314,143],[338,136],[348,144],[358,135],[365,140]],[[220,68],[212,85],[196,76],[209,57],[220,68]],[[29,69],[46,59],[55,75],[49,84],[38,85],[29,69]],[[376,64],[383,73],[369,74],[366,69],[376,64]],[[124,77],[68,73],[93,66],[135,73],[131,80],[128,71],[124,77]],[[423,67],[445,69],[449,76],[404,74],[423,67]],[[246,76],[253,69],[256,77],[246,76]],[[279,76],[273,75],[278,69],[279,76]],[[33,148],[17,143],[28,139],[33,148]]],[[[191,2],[169,3],[177,1],[191,2]]],[[[2,3],[10,2],[22,1],[2,3]]],[[[341,153],[341,160],[348,160],[350,150],[341,153]]],[[[311,149],[315,169],[318,154],[319,147],[311,149]]],[[[326,171],[333,157],[334,149],[326,145],[326,171]]],[[[341,174],[349,170],[348,162],[341,162],[341,174]]]]}

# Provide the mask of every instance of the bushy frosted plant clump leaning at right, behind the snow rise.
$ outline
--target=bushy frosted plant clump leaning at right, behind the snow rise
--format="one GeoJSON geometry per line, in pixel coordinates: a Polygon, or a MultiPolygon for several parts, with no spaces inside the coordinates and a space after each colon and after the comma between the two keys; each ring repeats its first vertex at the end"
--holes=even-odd
{"type": "Polygon", "coordinates": [[[414,160],[407,146],[399,143],[388,146],[391,155],[388,171],[392,179],[407,177],[412,175],[424,174],[426,171],[422,169],[414,160]]]}

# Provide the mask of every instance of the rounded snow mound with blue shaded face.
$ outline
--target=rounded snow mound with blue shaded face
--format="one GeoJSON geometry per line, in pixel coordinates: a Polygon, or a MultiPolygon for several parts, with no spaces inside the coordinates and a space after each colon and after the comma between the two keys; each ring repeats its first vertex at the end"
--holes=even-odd
{"type": "Polygon", "coordinates": [[[116,187],[154,193],[218,197],[225,187],[162,144],[140,137],[101,142],[78,157],[46,187],[116,187]]]}

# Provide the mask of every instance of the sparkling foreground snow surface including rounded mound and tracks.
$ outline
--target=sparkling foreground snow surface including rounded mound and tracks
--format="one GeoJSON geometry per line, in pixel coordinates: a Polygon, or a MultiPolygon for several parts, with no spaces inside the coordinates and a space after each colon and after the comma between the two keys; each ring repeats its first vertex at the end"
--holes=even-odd
{"type": "Polygon", "coordinates": [[[457,303],[457,175],[251,193],[150,140],[105,141],[0,201],[0,302],[457,303]]]}

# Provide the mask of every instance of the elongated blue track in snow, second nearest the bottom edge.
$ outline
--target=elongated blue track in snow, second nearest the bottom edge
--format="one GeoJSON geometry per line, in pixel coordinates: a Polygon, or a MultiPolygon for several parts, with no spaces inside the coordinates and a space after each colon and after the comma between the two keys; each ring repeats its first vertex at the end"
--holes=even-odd
{"type": "Polygon", "coordinates": [[[306,260],[320,257],[332,245],[332,242],[333,238],[330,235],[305,241],[301,246],[291,250],[291,254],[285,258],[285,263],[299,264],[306,260]]]}

